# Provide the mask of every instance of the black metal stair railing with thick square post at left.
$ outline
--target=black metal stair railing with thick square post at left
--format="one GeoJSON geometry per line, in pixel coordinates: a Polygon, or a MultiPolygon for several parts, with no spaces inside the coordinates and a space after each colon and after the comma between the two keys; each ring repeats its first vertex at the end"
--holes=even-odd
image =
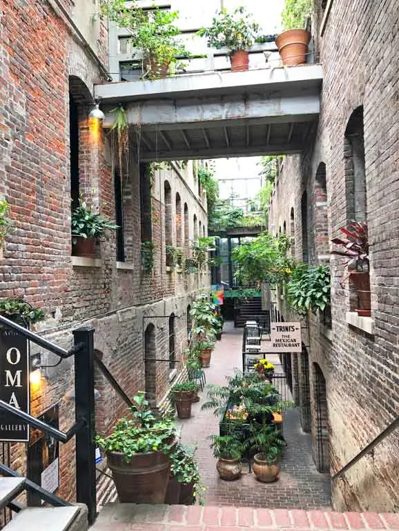
{"type": "MultiPolygon", "coordinates": [[[[47,339],[23,328],[23,326],[10,321],[6,317],[0,316],[0,324],[11,328],[33,343],[57,354],[61,359],[68,359],[74,356],[75,359],[75,423],[64,433],[47,423],[32,417],[32,415],[14,408],[12,405],[0,401],[0,409],[14,414],[19,419],[23,419],[38,430],[52,435],[57,441],[66,443],[75,436],[75,457],[76,457],[76,500],[84,503],[88,508],[88,522],[92,525],[97,517],[96,503],[96,473],[95,473],[95,405],[94,405],[94,329],[79,328],[73,331],[74,345],[70,350],[51,343],[47,339]]],[[[8,466],[1,465],[0,473],[19,477],[8,466]]],[[[43,494],[43,499],[52,505],[60,503],[59,498],[39,485],[26,479],[24,488],[35,490],[43,494]]],[[[70,505],[67,501],[62,501],[65,505],[70,505]]],[[[12,508],[17,508],[15,503],[12,508]]]]}

